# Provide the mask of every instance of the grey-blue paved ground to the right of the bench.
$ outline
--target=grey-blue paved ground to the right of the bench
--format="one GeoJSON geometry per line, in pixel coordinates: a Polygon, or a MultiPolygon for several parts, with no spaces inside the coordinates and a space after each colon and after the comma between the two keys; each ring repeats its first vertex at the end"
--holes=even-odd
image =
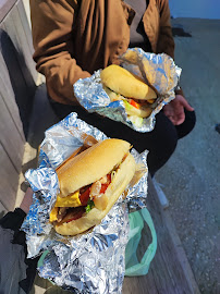
{"type": "Polygon", "coordinates": [[[174,19],[181,84],[195,108],[195,130],[157,174],[200,292],[220,293],[220,20],[174,19]],[[184,35],[184,34],[183,34],[184,35]]]}

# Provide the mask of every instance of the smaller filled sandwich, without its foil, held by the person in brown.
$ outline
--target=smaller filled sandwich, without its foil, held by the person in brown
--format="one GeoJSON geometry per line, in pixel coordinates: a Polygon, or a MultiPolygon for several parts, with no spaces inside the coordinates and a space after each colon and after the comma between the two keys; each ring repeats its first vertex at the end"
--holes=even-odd
{"type": "Polygon", "coordinates": [[[123,100],[131,119],[135,117],[144,119],[150,115],[152,111],[150,106],[157,99],[157,94],[138,76],[111,64],[101,71],[100,78],[111,101],[123,100]]]}

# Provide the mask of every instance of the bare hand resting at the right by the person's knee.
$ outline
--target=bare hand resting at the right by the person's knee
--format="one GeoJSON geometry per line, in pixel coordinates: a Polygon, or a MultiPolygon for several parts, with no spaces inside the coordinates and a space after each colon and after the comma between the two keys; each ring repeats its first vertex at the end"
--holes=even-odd
{"type": "Polygon", "coordinates": [[[194,111],[194,108],[188,105],[182,95],[176,95],[175,99],[163,107],[163,112],[174,125],[179,125],[185,121],[184,108],[188,111],[194,111]]]}

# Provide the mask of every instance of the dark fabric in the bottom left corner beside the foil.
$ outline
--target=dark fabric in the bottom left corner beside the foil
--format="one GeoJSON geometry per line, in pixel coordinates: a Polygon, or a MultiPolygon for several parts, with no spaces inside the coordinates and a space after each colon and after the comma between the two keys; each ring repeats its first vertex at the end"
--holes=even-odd
{"type": "Polygon", "coordinates": [[[25,217],[16,208],[0,219],[0,293],[29,293],[35,280],[39,257],[26,258],[26,236],[20,231],[25,217]]]}

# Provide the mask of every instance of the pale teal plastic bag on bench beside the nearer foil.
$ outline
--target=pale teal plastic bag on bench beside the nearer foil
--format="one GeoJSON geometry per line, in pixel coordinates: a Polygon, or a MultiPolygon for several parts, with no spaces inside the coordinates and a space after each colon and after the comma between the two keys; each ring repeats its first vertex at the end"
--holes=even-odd
{"type": "Polygon", "coordinates": [[[125,275],[144,275],[148,272],[151,260],[157,250],[157,234],[155,225],[147,208],[131,212],[129,243],[125,249],[125,275]],[[148,224],[152,242],[149,244],[140,261],[137,259],[137,248],[142,237],[144,221],[148,224]]]}

